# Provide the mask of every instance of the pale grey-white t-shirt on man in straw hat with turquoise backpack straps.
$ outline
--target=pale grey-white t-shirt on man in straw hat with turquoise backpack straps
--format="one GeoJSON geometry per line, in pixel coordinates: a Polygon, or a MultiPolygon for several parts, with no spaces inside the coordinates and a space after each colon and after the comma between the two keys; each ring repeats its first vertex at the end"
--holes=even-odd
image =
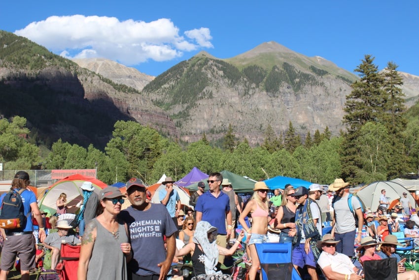
{"type": "MultiPolygon", "coordinates": [[[[355,225],[355,218],[349,209],[348,205],[349,195],[344,197],[337,197],[333,205],[335,210],[335,233],[343,234],[354,231],[358,225],[355,225]]],[[[352,209],[361,208],[361,203],[355,197],[352,197],[352,209]]]]}

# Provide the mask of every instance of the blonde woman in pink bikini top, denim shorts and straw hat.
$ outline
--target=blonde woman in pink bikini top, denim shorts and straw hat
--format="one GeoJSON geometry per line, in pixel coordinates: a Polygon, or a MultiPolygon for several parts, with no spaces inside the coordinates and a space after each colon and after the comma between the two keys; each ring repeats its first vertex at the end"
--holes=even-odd
{"type": "Polygon", "coordinates": [[[252,266],[249,270],[249,280],[256,278],[256,272],[259,268],[260,262],[256,252],[256,243],[266,243],[268,241],[268,222],[271,219],[269,216],[269,201],[267,198],[269,188],[265,182],[256,182],[254,193],[251,200],[240,214],[239,222],[243,229],[247,232],[247,245],[250,249],[250,258],[252,266]],[[244,217],[250,213],[252,217],[252,227],[248,228],[244,217]]]}

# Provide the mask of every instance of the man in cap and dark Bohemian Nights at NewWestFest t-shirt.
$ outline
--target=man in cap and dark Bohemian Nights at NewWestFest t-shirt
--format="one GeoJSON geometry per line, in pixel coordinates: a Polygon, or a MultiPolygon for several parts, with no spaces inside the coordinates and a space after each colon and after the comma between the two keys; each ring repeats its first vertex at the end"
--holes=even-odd
{"type": "Polygon", "coordinates": [[[130,232],[133,258],[127,265],[128,272],[133,280],[166,279],[175,256],[175,223],[165,205],[147,202],[140,179],[132,178],[126,186],[131,206],[118,218],[127,223],[130,232]]]}

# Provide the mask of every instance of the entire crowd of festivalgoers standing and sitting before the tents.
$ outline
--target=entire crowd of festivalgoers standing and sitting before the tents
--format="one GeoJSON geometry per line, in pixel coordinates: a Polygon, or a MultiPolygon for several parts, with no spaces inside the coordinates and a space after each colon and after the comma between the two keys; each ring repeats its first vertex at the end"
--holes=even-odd
{"type": "Polygon", "coordinates": [[[406,259],[396,253],[396,246],[401,244],[392,235],[403,231],[419,245],[417,209],[407,200],[407,193],[389,209],[383,190],[374,212],[363,209],[361,201],[349,193],[349,183],[342,179],[328,188],[287,185],[284,190],[274,190],[271,198],[268,186],[256,182],[251,198],[243,203],[233,184],[214,172],[207,180],[209,190],[205,191],[205,184],[200,182],[198,191],[190,196],[192,208],[181,204],[174,182],[167,177],[162,183],[158,192],[161,203],[151,203],[146,186],[138,178],[126,183],[126,194],[115,187],[95,193],[92,183],[84,182],[80,203],[68,205],[62,193],[56,201],[57,213],[51,215],[39,210],[34,193],[27,189],[29,174],[17,172],[11,192],[22,197],[23,214],[28,219],[21,228],[1,228],[0,280],[7,278],[16,256],[22,279],[29,279],[45,249],[50,250],[54,270],[60,262],[62,243],[80,245],[79,280],[163,280],[169,274],[181,280],[181,272],[173,270],[172,263],[183,258],[193,263],[195,280],[230,279],[220,265],[225,256],[241,247],[247,277],[255,280],[260,268],[256,244],[266,242],[292,243],[291,262],[306,279],[317,280],[319,274],[329,280],[361,279],[358,272],[365,262],[395,257],[397,279],[419,280],[416,271],[406,271],[406,259]],[[123,209],[126,199],[130,206],[123,209]],[[76,229],[73,223],[60,220],[71,207],[79,208],[76,229]],[[331,230],[323,234],[327,223],[331,230]],[[236,228],[242,230],[236,232],[236,228]]]}

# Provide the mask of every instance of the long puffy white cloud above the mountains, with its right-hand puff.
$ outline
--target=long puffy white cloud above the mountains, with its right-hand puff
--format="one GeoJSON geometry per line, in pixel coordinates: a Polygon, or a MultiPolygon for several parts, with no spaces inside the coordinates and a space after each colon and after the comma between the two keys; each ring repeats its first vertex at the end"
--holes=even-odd
{"type": "Polygon", "coordinates": [[[185,31],[184,38],[166,18],[144,22],[105,16],[51,16],[15,34],[67,58],[103,57],[130,66],[148,59],[171,60],[185,51],[213,47],[208,28],[185,31]]]}

